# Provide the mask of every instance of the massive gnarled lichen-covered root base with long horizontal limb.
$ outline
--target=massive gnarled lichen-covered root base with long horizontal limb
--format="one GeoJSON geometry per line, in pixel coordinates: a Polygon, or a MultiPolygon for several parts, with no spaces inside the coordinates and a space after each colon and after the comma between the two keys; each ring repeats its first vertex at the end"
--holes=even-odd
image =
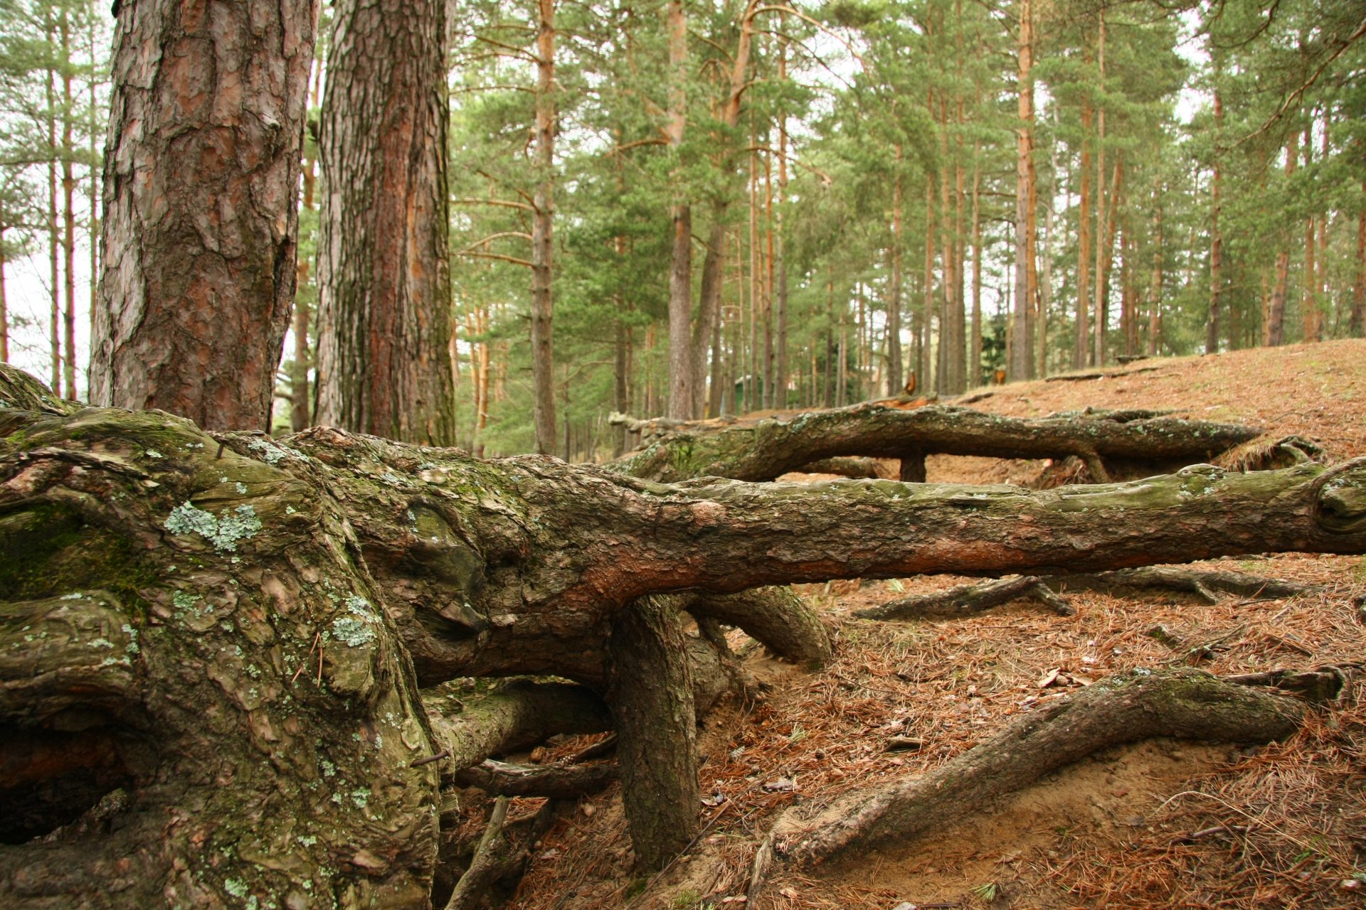
{"type": "MultiPolygon", "coordinates": [[[[0,398],[11,385],[0,374],[0,398]]],[[[695,824],[691,714],[622,694],[667,677],[682,697],[671,674],[691,673],[672,632],[650,666],[620,660],[643,654],[613,641],[649,637],[631,625],[649,595],[1366,553],[1366,461],[1045,493],[664,486],[325,428],[272,441],[38,407],[0,409],[0,760],[26,768],[0,782],[0,804],[26,806],[0,847],[14,907],[425,906],[454,768],[423,760],[454,754],[454,734],[419,681],[555,674],[607,693],[622,733],[669,720],[669,812],[695,824]],[[59,830],[117,789],[109,834],[59,830]]],[[[623,735],[623,776],[639,742],[623,735]]],[[[650,801],[631,793],[641,817],[650,801]]]]}

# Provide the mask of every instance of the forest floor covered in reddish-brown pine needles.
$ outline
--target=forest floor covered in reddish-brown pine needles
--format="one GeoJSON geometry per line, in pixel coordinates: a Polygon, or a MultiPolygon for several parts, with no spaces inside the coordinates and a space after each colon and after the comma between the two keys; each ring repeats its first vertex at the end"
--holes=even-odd
{"type": "MultiPolygon", "coordinates": [[[[979,390],[973,407],[1041,416],[1161,408],[1318,441],[1330,461],[1366,454],[1366,342],[1142,360],[1089,379],[979,390]],[[982,396],[982,392],[986,392],[982,396]]],[[[1029,482],[1042,463],[932,457],[929,480],[1029,482]]],[[[1198,566],[1197,566],[1198,568],[1198,566]]],[[[1075,617],[1027,602],[973,618],[870,622],[855,608],[955,577],[805,585],[836,658],[807,674],[732,644],[762,700],[701,731],[705,830],[658,876],[631,872],[616,789],[583,799],[542,839],[508,906],[522,910],[742,907],[758,840],[796,801],[825,802],[922,774],[1007,718],[1131,667],[1214,673],[1361,662],[1366,558],[1273,555],[1212,568],[1322,585],[1291,599],[1205,604],[1183,595],[1070,593],[1075,617]],[[1154,633],[1162,626],[1161,633],[1154,633]],[[1157,637],[1154,637],[1157,634],[1157,637]],[[1167,644],[1164,644],[1164,641],[1167,644]],[[915,750],[887,752],[892,735],[915,750]]],[[[1366,685],[1291,741],[1257,749],[1147,741],[1100,753],[923,842],[818,877],[776,880],[757,902],[783,910],[877,907],[1366,906],[1366,685]]],[[[583,739],[564,744],[568,752],[583,739]]],[[[559,752],[559,750],[556,750],[559,752]]],[[[514,809],[535,810],[537,801],[514,809]]],[[[467,804],[479,823],[479,804],[467,804]]]]}

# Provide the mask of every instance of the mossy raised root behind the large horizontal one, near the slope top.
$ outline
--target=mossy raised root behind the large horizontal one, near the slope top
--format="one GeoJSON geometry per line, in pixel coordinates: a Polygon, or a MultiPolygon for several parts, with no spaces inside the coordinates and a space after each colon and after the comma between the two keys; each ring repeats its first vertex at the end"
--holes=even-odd
{"type": "Polygon", "coordinates": [[[1152,416],[1152,412],[1079,412],[1003,417],[971,408],[915,409],[859,404],[758,422],[687,424],[656,438],[612,467],[663,483],[714,476],[772,480],[841,456],[902,458],[902,479],[923,480],[928,454],[1086,461],[1091,478],[1137,463],[1150,473],[1175,469],[1247,442],[1258,430],[1227,423],[1152,416]],[[1109,465],[1109,467],[1106,467],[1109,465]]]}

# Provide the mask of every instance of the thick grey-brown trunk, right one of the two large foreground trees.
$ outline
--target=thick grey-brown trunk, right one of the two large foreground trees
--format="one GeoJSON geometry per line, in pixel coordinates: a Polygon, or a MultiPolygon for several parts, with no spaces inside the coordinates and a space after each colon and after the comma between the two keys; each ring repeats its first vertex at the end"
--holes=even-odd
{"type": "Polygon", "coordinates": [[[320,161],[318,423],[455,442],[445,5],[336,4],[320,161]]]}

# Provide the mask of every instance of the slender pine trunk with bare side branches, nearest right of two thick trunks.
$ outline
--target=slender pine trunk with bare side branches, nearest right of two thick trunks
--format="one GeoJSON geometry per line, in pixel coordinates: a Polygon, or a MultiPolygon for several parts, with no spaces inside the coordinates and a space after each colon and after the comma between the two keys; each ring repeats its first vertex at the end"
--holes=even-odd
{"type": "MultiPolygon", "coordinates": [[[[535,37],[535,168],[531,201],[531,422],[535,450],[555,445],[553,267],[555,226],[555,0],[538,0],[535,37]]],[[[444,146],[443,146],[444,147],[444,146]]],[[[568,396],[568,389],[566,389],[568,396]]],[[[566,420],[568,415],[566,415],[566,420]]]]}

